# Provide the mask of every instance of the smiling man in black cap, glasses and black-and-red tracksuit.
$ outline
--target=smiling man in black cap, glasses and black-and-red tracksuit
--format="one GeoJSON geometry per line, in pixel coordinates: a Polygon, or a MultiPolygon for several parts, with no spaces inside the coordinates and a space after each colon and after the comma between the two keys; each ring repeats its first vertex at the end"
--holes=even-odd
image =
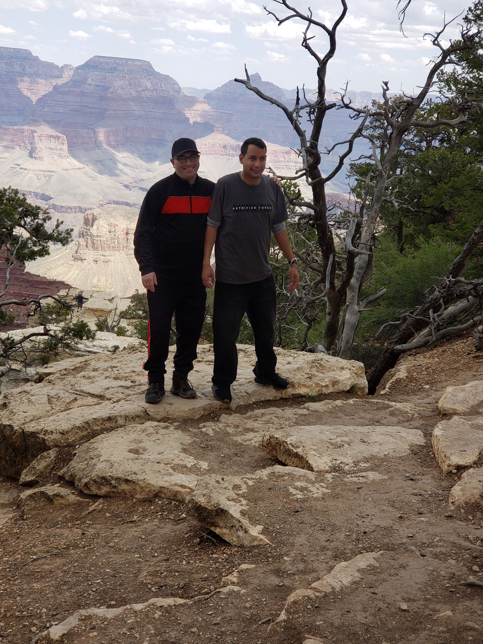
{"type": "Polygon", "coordinates": [[[171,393],[196,398],[188,381],[205,317],[202,283],[206,218],[214,183],[198,176],[200,153],[191,138],[171,148],[173,175],[151,186],[144,197],[134,234],[134,254],[147,289],[149,323],[146,403],[165,393],[164,374],[171,320],[175,314],[176,353],[171,393]]]}

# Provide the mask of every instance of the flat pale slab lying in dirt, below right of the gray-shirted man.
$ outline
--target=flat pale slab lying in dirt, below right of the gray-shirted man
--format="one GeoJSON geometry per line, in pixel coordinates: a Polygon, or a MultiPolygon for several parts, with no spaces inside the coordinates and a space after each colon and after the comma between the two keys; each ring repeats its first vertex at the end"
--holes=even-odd
{"type": "Polygon", "coordinates": [[[413,445],[424,445],[422,432],[391,426],[299,426],[269,433],[261,446],[270,456],[294,468],[330,472],[352,468],[361,460],[401,457],[413,445]]]}

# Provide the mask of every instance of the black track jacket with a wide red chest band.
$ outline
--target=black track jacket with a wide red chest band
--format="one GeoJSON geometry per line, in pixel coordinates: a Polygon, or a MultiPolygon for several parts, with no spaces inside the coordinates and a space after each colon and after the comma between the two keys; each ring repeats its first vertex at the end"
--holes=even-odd
{"type": "Polygon", "coordinates": [[[201,279],[206,217],[214,183],[196,176],[193,185],[176,173],[152,185],[134,233],[141,275],[156,272],[173,281],[201,279]]]}

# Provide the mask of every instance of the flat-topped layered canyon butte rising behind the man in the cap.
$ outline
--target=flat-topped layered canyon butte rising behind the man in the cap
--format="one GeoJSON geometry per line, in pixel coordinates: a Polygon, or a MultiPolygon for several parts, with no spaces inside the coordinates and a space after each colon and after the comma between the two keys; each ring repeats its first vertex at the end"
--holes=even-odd
{"type": "Polygon", "coordinates": [[[185,115],[198,100],[150,62],[94,56],[75,68],[70,81],[37,100],[32,118],[61,132],[70,150],[142,144],[154,152],[174,138],[213,130],[192,125],[185,115]]]}

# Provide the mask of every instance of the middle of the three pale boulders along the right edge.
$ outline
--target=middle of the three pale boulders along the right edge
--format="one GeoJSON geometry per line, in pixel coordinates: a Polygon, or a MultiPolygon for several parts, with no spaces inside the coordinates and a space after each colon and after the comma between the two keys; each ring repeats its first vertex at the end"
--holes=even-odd
{"type": "Polygon", "coordinates": [[[454,416],[441,421],[433,430],[433,452],[443,471],[468,468],[477,462],[483,450],[483,418],[454,416]]]}

